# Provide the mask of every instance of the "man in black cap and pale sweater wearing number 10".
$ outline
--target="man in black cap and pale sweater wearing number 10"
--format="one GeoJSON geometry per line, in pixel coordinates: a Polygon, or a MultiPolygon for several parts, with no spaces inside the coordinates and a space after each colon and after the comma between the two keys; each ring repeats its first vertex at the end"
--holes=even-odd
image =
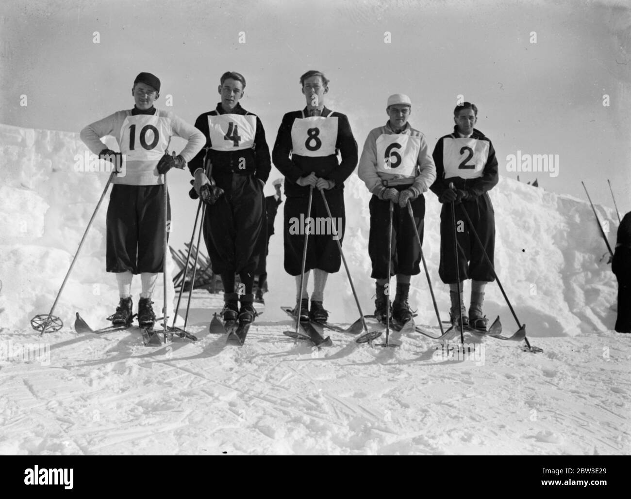
{"type": "Polygon", "coordinates": [[[159,272],[164,272],[163,234],[170,220],[164,210],[164,181],[161,173],[183,168],[204,145],[204,135],[172,112],[153,106],[160,96],[160,79],[141,72],[131,90],[134,108],[115,112],[81,130],[81,140],[91,152],[118,166],[107,208],[106,270],[116,274],[119,306],[112,323],[131,322],[131,282],[140,274],[142,292],[138,302],[138,323],[152,326],[155,314],[151,294],[159,272]],[[113,135],[121,152],[110,150],[101,138],[113,135]],[[188,142],[174,158],[168,154],[171,137],[188,142]]]}

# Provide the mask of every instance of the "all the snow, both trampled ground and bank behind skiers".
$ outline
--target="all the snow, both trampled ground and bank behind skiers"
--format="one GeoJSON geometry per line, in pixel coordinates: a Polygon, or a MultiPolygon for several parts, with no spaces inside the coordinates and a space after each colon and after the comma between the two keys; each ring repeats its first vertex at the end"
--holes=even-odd
{"type": "MultiPolygon", "coordinates": [[[[505,178],[491,192],[497,272],[543,353],[470,335],[471,352],[456,358],[417,334],[394,333],[398,348],[331,331],[333,347],[293,343],[282,334],[292,324],[280,306],[293,304],[295,286],[283,270],[281,212],[266,309],[244,347],[208,334],[221,296],[196,292],[188,330],[199,341],[156,349],[143,347],[135,329],[94,336],[72,328],[76,311],[104,326],[117,302],[105,272],[107,199],[54,312],[64,328],[32,330],[30,318],[52,306],[108,174],[74,171],[85,146],[69,132],[0,125],[0,152],[1,454],[630,453],[629,338],[612,331],[616,282],[582,200],[505,178]]],[[[440,205],[426,198],[423,250],[446,316],[440,205]]],[[[364,313],[374,294],[368,200],[353,175],[343,248],[364,313]]],[[[596,209],[615,243],[615,212],[596,209]]],[[[437,324],[425,276],[412,287],[416,322],[437,324]]],[[[329,278],[324,305],[336,323],[357,318],[343,269],[329,278]]],[[[517,329],[497,284],[487,287],[485,313],[501,316],[505,334],[517,329]]]]}

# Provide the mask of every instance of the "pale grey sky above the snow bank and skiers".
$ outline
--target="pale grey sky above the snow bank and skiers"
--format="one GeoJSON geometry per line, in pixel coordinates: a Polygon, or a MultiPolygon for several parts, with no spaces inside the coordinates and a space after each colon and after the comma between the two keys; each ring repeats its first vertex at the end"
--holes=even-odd
{"type": "MultiPolygon", "coordinates": [[[[194,123],[230,70],[244,74],[241,104],[259,115],[271,149],[283,114],[305,105],[300,75],[318,69],[331,80],[326,105],[348,116],[360,151],[392,93],[410,96],[410,123],[431,149],[451,132],[462,95],[479,108],[476,128],[500,175],[583,199],[584,180],[595,203],[613,206],[610,179],[624,213],[630,62],[631,9],[618,1],[5,0],[0,122],[79,132],[133,107],[134,77],[149,71],[162,81],[156,106],[194,123]],[[518,151],[558,154],[557,175],[508,171],[518,151]]],[[[183,227],[196,209],[189,180],[170,178],[183,227]]]]}

